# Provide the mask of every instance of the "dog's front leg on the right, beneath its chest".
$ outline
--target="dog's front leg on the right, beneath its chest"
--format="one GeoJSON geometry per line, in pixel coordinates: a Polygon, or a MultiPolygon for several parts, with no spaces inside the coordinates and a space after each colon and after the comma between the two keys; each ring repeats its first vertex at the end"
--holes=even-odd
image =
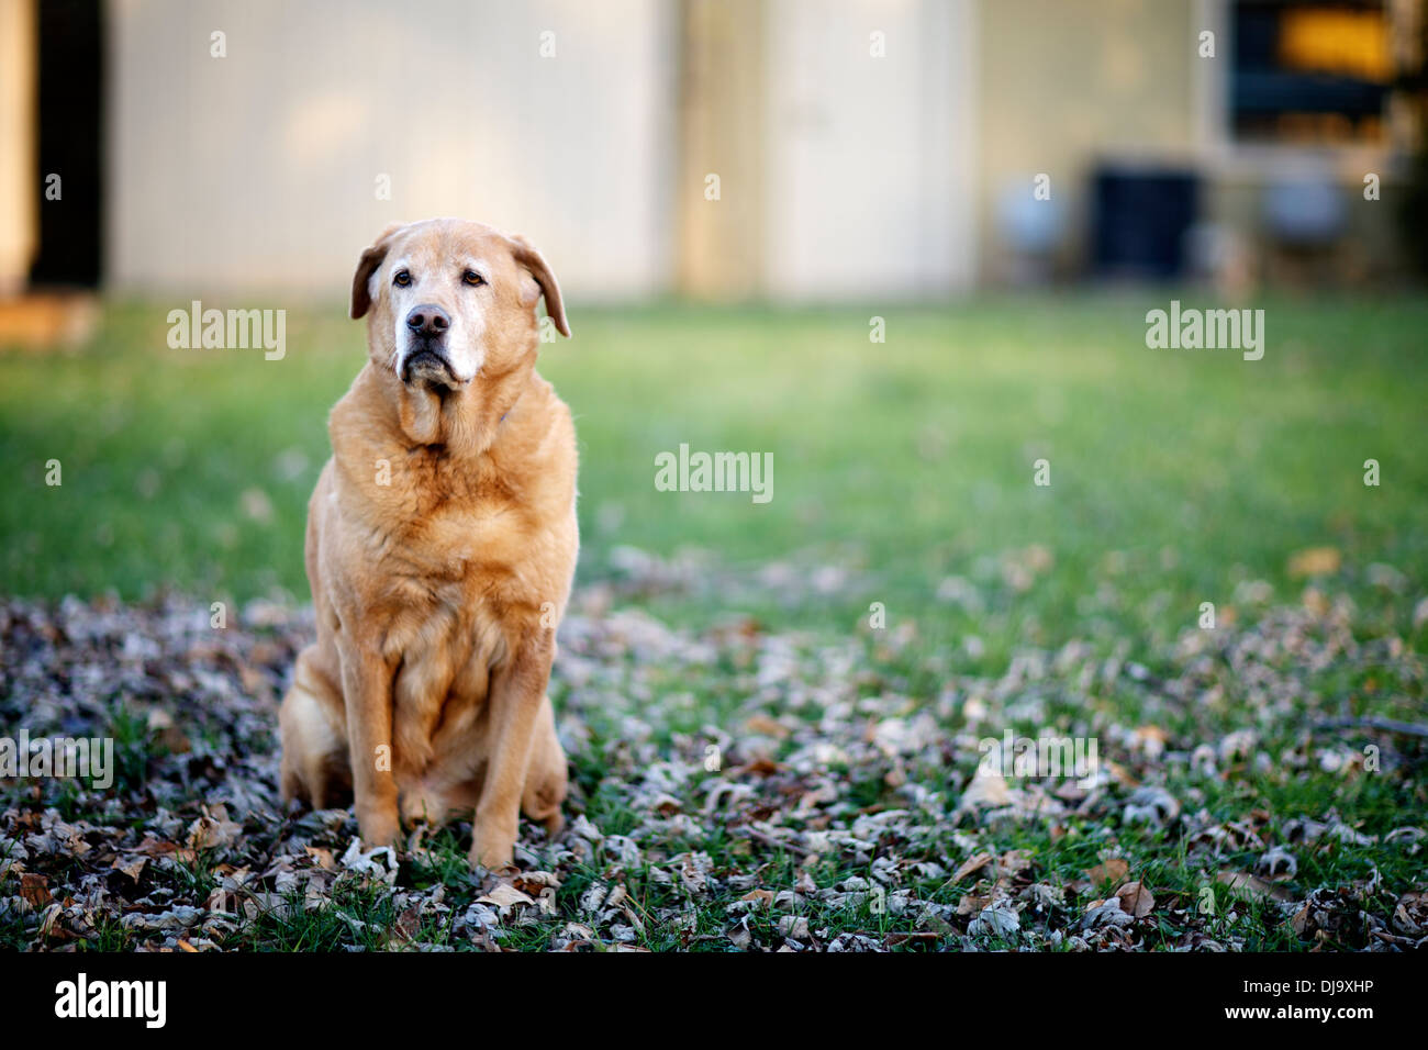
{"type": "Polygon", "coordinates": [[[521,793],[530,766],[531,741],[550,666],[554,631],[537,630],[521,639],[514,654],[491,671],[491,763],[471,827],[471,864],[493,871],[514,860],[521,793]]]}

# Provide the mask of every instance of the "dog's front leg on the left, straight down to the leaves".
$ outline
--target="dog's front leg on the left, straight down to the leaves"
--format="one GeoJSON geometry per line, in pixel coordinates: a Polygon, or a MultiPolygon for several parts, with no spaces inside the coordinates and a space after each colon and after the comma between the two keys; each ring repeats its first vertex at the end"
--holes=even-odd
{"type": "Polygon", "coordinates": [[[368,847],[391,846],[401,831],[391,771],[393,667],[373,646],[344,647],[341,659],[357,827],[368,847]]]}

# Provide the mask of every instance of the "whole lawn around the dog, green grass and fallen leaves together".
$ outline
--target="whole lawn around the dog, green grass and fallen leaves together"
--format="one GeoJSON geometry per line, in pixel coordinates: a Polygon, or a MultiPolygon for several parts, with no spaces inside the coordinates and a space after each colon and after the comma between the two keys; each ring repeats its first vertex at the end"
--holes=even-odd
{"type": "MultiPolygon", "coordinates": [[[[70,924],[103,947],[183,929],[238,947],[1421,939],[1424,740],[1365,720],[1424,721],[1428,304],[1257,303],[1267,351],[1244,361],[1147,349],[1145,311],[1170,299],[574,306],[575,339],[541,363],[581,451],[553,683],[574,827],[528,831],[538,877],[496,890],[466,876],[464,826],[374,871],[350,817],[273,813],[306,501],[361,326],[293,313],[266,361],[169,350],[166,310],[124,304],[80,351],[9,353],[0,594],[87,604],[7,606],[0,730],[107,717],[133,761],[107,793],[11,789],[0,870],[56,821],[94,856],[139,856],[143,830],[177,843],[126,889],[201,914],[70,924]],[[773,500],[658,491],[655,456],[681,443],[773,453],[773,500]],[[220,600],[244,611],[203,649],[220,600]],[[137,663],[134,630],[159,639],[137,663]],[[81,673],[96,651],[123,673],[81,673]],[[181,744],[170,723],[193,726],[181,744]],[[978,741],[1007,730],[1095,739],[1101,776],[974,777],[978,741]],[[231,764],[196,771],[214,756],[231,764]],[[200,799],[240,829],[221,846],[193,834],[200,799]],[[1138,889],[1108,897],[1137,884],[1147,914],[1138,889]],[[263,906],[210,929],[216,893],[263,906]],[[1128,921],[1101,900],[1130,900],[1128,921]]],[[[81,883],[83,863],[30,853],[56,903],[81,883]]],[[[41,914],[0,903],[0,937],[43,940],[41,914]]]]}

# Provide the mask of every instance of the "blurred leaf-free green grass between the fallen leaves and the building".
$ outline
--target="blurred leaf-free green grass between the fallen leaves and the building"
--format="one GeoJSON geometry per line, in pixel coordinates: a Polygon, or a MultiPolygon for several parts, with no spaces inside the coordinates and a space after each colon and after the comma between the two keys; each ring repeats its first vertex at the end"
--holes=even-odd
{"type": "MultiPolygon", "coordinates": [[[[1148,350],[1144,313],[1168,297],[577,306],[577,337],[544,347],[541,370],[577,417],[580,579],[608,574],[618,544],[701,549],[735,570],[835,564],[858,586],[744,604],[841,631],[883,601],[890,621],[970,630],[934,599],[937,583],[1042,544],[1055,564],[1034,596],[977,617],[992,656],[1022,633],[1075,633],[1111,551],[1122,603],[1098,614],[1155,636],[1200,601],[1228,601],[1240,579],[1297,597],[1287,559],[1308,546],[1344,551],[1351,590],[1374,561],[1421,583],[1428,306],[1272,300],[1265,359],[1251,363],[1148,350]],[[868,340],[874,313],[887,343],[868,340]],[[771,451],[773,501],[655,491],[655,454],[681,441],[771,451]],[[1032,484],[1041,457],[1050,487],[1032,484]],[[1381,463],[1379,487],[1362,481],[1367,459],[1381,463]]],[[[164,333],[161,307],[127,304],[76,354],[0,357],[4,591],[306,599],[306,501],[363,326],[290,316],[281,361],[174,351],[164,333]],[[60,487],[44,483],[51,459],[60,487]]],[[[681,594],[654,606],[695,621],[730,611],[681,594]]]]}

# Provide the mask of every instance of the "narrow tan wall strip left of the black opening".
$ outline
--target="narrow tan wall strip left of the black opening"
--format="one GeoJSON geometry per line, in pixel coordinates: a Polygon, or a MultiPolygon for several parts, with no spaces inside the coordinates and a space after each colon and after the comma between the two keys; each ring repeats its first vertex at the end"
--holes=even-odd
{"type": "Polygon", "coordinates": [[[0,0],[0,294],[24,287],[39,236],[34,34],[34,0],[0,0]]]}

